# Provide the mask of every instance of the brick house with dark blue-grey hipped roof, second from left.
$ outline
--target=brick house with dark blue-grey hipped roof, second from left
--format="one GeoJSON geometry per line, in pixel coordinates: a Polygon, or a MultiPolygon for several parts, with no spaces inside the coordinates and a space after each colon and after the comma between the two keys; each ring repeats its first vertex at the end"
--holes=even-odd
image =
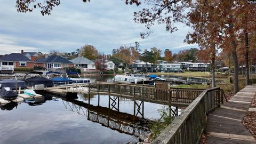
{"type": "Polygon", "coordinates": [[[35,61],[35,66],[42,67],[46,69],[63,69],[63,68],[73,68],[74,63],[60,57],[59,55],[51,55],[47,58],[41,58],[35,61]]]}

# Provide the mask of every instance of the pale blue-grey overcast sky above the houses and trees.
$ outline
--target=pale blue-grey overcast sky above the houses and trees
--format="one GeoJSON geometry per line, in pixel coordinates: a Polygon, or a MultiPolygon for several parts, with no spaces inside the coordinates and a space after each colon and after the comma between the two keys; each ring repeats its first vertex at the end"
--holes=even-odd
{"type": "Polygon", "coordinates": [[[136,41],[142,50],[158,47],[176,53],[197,47],[183,43],[189,28],[181,24],[172,34],[165,31],[164,25],[154,25],[153,34],[142,39],[140,32],[146,29],[133,21],[133,12],[142,7],[127,6],[121,0],[62,0],[49,16],[42,16],[39,10],[18,13],[15,5],[15,0],[0,1],[0,54],[21,50],[72,52],[85,44],[110,54],[136,41]]]}

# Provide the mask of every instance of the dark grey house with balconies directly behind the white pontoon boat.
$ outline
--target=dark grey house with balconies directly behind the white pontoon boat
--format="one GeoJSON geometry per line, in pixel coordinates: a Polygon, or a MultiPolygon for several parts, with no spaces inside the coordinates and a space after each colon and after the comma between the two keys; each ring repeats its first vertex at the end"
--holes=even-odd
{"type": "Polygon", "coordinates": [[[154,71],[155,66],[153,65],[153,63],[147,62],[147,65],[146,65],[146,62],[144,61],[135,60],[133,64],[130,66],[130,68],[132,70],[139,70],[139,71],[145,72],[145,71],[154,71]]]}

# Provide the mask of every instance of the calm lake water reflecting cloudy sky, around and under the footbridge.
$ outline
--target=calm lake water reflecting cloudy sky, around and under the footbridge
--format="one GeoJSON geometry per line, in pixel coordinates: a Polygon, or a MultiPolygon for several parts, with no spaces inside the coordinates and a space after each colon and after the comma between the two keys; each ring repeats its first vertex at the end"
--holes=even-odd
{"type": "MultiPolygon", "coordinates": [[[[113,76],[91,76],[111,81],[113,76]]],[[[134,118],[133,100],[120,98],[119,111],[108,109],[108,96],[78,94],[65,100],[45,94],[42,103],[1,106],[0,143],[127,143],[147,134],[148,121],[159,118],[163,105],[144,103],[144,117],[134,118]]]]}

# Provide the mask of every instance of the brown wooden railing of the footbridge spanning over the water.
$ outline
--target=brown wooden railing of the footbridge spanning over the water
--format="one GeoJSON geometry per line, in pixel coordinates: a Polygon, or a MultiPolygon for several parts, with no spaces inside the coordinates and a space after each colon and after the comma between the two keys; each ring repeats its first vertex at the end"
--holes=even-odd
{"type": "Polygon", "coordinates": [[[130,99],[170,105],[171,103],[193,102],[203,90],[156,89],[154,87],[115,83],[90,83],[90,93],[116,95],[130,99]]]}

